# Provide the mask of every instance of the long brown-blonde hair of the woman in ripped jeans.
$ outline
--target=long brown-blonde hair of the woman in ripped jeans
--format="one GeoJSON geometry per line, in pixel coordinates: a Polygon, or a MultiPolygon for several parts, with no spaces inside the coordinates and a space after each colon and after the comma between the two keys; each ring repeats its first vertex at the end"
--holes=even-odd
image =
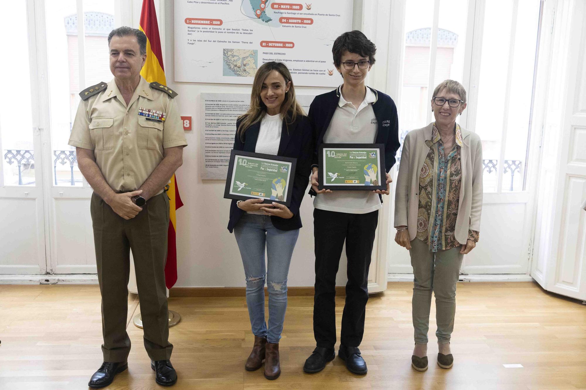
{"type": "Polygon", "coordinates": [[[278,73],[280,73],[285,79],[284,87],[287,87],[289,81],[291,82],[289,85],[289,91],[285,93],[285,100],[281,104],[281,118],[284,119],[285,125],[290,125],[295,122],[297,115],[305,116],[305,111],[303,111],[303,108],[301,108],[301,105],[295,98],[295,88],[293,87],[291,73],[289,73],[287,66],[281,62],[267,62],[258,68],[257,73],[254,76],[253,90],[250,94],[250,108],[248,108],[248,111],[245,114],[240,115],[238,118],[241,120],[237,129],[240,139],[243,139],[244,131],[255,123],[261,121],[267,112],[267,106],[260,97],[260,91],[263,88],[265,78],[267,78],[273,70],[278,71],[278,73]]]}

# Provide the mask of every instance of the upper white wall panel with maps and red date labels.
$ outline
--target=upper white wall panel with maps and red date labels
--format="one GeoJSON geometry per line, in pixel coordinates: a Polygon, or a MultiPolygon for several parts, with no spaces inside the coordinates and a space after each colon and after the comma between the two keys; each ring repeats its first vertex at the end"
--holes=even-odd
{"type": "Polygon", "coordinates": [[[178,0],[175,81],[251,84],[268,61],[295,85],[337,87],[332,45],[352,29],[353,0],[178,0]]]}

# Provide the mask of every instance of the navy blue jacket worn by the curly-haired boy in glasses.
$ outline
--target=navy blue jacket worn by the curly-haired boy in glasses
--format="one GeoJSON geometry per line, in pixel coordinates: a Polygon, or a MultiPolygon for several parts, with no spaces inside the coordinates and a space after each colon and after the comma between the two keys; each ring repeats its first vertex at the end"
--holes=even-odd
{"type": "MultiPolygon", "coordinates": [[[[370,87],[367,87],[370,88],[370,87]]],[[[315,97],[309,106],[309,124],[314,136],[314,155],[312,167],[319,165],[318,147],[323,143],[323,135],[332,121],[333,114],[338,107],[342,85],[333,91],[315,97]]],[[[384,143],[384,164],[386,172],[395,165],[399,142],[399,122],[395,102],[387,94],[370,88],[376,95],[376,101],[372,104],[374,117],[379,122],[374,143],[384,143]]],[[[309,194],[315,196],[315,191],[309,188],[309,194]]]]}

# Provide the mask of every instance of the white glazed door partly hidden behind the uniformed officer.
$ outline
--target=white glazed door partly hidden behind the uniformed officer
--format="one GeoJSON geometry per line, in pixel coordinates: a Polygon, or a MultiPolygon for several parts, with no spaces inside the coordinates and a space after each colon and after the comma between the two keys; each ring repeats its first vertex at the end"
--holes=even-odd
{"type": "Polygon", "coordinates": [[[77,167],[75,148],[67,145],[79,105],[79,91],[107,83],[108,33],[114,29],[114,1],[47,3],[42,10],[49,101],[46,156],[46,196],[50,227],[51,273],[96,273],[90,217],[92,190],[77,167]],[[80,22],[83,20],[83,22],[80,22]]]}

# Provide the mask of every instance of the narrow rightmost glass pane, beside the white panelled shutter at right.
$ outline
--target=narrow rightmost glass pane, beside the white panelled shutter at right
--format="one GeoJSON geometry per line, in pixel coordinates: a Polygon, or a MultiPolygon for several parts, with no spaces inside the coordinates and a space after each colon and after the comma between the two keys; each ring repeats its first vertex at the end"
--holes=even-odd
{"type": "Polygon", "coordinates": [[[503,191],[522,191],[537,50],[539,2],[519,0],[505,144],[503,191]]]}

